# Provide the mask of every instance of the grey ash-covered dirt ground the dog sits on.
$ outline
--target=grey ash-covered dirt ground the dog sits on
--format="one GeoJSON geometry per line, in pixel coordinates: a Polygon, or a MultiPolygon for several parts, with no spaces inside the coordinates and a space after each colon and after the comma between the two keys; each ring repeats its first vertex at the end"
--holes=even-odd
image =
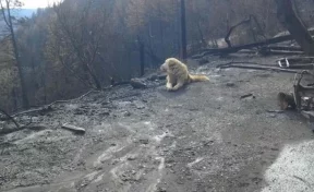
{"type": "Polygon", "coordinates": [[[269,112],[279,109],[278,92],[291,92],[293,74],[215,68],[231,60],[276,58],[210,58],[194,70],[209,83],[178,92],[162,81],[117,86],[32,115],[46,129],[0,137],[0,191],[313,191],[311,129],[295,111],[269,112]]]}

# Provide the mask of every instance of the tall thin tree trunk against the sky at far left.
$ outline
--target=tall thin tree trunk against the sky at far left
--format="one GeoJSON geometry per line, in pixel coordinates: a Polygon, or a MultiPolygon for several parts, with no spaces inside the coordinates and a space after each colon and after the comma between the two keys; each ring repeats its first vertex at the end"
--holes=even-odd
{"type": "Polygon", "coordinates": [[[12,8],[19,8],[21,5],[22,5],[22,2],[19,0],[0,0],[2,17],[5,22],[5,25],[9,29],[9,34],[11,36],[14,58],[15,58],[17,70],[19,70],[20,83],[21,83],[21,88],[22,88],[23,107],[28,108],[29,101],[27,97],[27,88],[26,88],[25,77],[24,77],[24,73],[22,69],[22,61],[21,61],[21,57],[19,52],[19,47],[17,47],[15,32],[14,32],[14,25],[13,25],[14,17],[11,15],[12,8]]]}

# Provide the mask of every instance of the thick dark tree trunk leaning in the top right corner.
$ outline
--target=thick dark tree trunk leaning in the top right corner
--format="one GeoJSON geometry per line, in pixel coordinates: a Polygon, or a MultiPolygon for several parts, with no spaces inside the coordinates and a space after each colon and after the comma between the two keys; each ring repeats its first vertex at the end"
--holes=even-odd
{"type": "Polygon", "coordinates": [[[306,27],[297,15],[291,0],[275,0],[277,3],[277,17],[291,36],[302,47],[305,53],[314,55],[314,40],[306,27]]]}

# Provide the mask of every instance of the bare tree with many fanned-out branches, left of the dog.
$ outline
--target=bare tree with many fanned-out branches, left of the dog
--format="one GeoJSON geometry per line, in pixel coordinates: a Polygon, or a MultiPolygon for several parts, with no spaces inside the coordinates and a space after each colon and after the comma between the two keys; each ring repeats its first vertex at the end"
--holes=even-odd
{"type": "MultiPolygon", "coordinates": [[[[100,43],[108,15],[105,12],[93,13],[90,10],[93,0],[86,1],[84,10],[76,19],[74,17],[76,12],[73,11],[73,14],[71,14],[70,8],[64,5],[53,7],[58,17],[58,28],[56,28],[55,33],[57,33],[57,38],[63,39],[59,46],[67,47],[67,51],[70,51],[68,53],[77,59],[87,79],[90,76],[92,84],[97,89],[101,89],[101,83],[95,69],[95,60],[100,51],[100,43]]],[[[61,62],[63,61],[61,60],[61,62]]]]}

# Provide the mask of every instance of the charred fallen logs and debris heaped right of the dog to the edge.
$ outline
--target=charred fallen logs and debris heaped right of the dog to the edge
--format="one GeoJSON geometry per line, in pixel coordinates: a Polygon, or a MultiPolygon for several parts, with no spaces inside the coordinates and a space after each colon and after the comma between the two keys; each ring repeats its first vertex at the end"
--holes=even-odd
{"type": "MultiPolygon", "coordinates": [[[[228,47],[203,49],[200,51],[200,53],[192,56],[192,58],[198,60],[200,63],[206,63],[206,57],[225,57],[230,53],[282,56],[282,58],[274,60],[274,63],[232,61],[218,64],[216,68],[238,68],[293,73],[294,81],[293,85],[291,84],[291,86],[293,86],[293,93],[278,93],[277,100],[281,110],[276,111],[283,112],[285,110],[297,110],[307,119],[307,122],[314,132],[314,57],[306,56],[302,48],[299,46],[291,46],[291,43],[293,41],[293,37],[291,35],[281,35],[270,39],[265,38],[264,40],[255,41],[252,44],[232,46],[229,39],[232,29],[242,24],[247,24],[252,22],[252,20],[253,17],[250,17],[230,28],[227,36],[225,37],[225,41],[228,47]]],[[[309,32],[311,35],[314,35],[314,29],[310,29],[309,32]]]]}

